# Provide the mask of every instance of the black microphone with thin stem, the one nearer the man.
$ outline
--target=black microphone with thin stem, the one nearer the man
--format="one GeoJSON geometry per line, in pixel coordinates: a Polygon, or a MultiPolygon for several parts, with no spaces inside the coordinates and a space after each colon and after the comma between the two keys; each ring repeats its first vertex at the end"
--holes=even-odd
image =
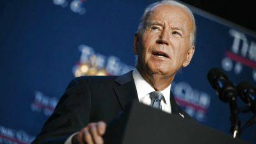
{"type": "Polygon", "coordinates": [[[228,81],[228,77],[219,68],[212,68],[209,70],[207,78],[212,88],[216,90],[221,101],[229,104],[231,113],[230,121],[232,123],[230,132],[232,133],[233,138],[237,138],[241,129],[241,121],[238,117],[239,109],[237,108],[236,86],[228,81]]]}

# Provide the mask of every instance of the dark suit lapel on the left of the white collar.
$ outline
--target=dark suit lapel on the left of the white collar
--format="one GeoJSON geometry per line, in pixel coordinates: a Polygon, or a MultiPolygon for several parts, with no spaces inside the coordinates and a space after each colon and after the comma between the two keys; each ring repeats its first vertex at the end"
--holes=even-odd
{"type": "Polygon", "coordinates": [[[124,110],[125,106],[131,102],[131,100],[138,100],[138,94],[132,77],[132,71],[117,77],[115,82],[117,85],[114,86],[113,89],[115,90],[116,97],[119,100],[122,109],[124,110]]]}

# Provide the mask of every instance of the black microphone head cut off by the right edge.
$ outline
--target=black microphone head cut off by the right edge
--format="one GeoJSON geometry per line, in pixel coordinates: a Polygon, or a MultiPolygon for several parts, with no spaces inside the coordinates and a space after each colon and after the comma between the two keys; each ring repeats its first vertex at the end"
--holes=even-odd
{"type": "Polygon", "coordinates": [[[256,87],[252,83],[243,81],[237,85],[237,92],[241,100],[256,114],[256,87]]]}

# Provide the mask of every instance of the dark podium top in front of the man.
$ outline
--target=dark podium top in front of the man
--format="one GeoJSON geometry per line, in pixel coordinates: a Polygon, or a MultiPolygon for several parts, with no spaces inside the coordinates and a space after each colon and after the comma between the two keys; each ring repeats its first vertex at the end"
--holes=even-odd
{"type": "MultiPolygon", "coordinates": [[[[133,101],[108,125],[106,144],[246,144],[240,139],[133,101]]],[[[248,144],[248,143],[247,143],[248,144]]]]}

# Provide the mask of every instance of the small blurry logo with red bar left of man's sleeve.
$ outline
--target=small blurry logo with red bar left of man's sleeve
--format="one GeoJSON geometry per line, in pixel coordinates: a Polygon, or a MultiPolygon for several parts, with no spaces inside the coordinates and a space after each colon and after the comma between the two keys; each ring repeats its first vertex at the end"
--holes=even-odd
{"type": "Polygon", "coordinates": [[[53,113],[54,108],[58,103],[56,97],[48,97],[42,92],[35,92],[35,100],[31,104],[31,110],[36,112],[43,111],[45,115],[49,116],[53,113]]]}

